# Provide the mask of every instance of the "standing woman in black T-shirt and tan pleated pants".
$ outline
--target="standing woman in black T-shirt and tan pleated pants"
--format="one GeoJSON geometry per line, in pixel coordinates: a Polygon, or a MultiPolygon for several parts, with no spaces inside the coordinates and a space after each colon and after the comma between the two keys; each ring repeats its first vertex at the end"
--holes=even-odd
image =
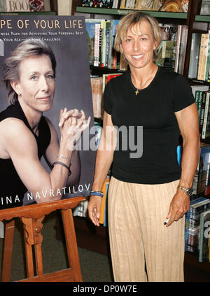
{"type": "Polygon", "coordinates": [[[88,204],[90,219],[99,226],[99,195],[113,163],[108,215],[115,281],[183,281],[184,214],[190,206],[200,134],[190,85],[155,64],[160,43],[160,27],[151,15],[137,11],[120,20],[115,49],[123,53],[130,71],[106,85],[104,132],[88,204]],[[135,143],[141,136],[137,127],[143,127],[140,157],[134,157],[130,142],[123,149],[120,133],[116,142],[106,132],[122,126],[128,131],[134,127],[135,143]],[[181,167],[176,157],[180,132],[181,167]]]}

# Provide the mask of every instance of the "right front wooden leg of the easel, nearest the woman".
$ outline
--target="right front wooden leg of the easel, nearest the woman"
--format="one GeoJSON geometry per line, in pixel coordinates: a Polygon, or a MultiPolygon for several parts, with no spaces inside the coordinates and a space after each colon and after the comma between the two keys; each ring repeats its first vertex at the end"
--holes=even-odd
{"type": "Polygon", "coordinates": [[[64,233],[66,237],[66,248],[69,259],[69,267],[73,269],[73,281],[82,281],[72,211],[71,209],[61,211],[64,233]]]}

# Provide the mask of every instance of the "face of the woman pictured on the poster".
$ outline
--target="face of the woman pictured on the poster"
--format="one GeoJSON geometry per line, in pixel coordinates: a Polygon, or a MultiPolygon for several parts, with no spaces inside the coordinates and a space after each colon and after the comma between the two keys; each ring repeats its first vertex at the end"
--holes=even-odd
{"type": "Polygon", "coordinates": [[[27,108],[49,111],[55,92],[55,75],[48,55],[26,57],[19,64],[20,79],[11,85],[27,108]]]}

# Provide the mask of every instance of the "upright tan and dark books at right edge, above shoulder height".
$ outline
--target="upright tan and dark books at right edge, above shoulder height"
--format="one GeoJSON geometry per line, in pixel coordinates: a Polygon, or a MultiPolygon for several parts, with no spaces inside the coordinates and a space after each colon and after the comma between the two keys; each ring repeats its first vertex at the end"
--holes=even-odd
{"type": "Polygon", "coordinates": [[[188,78],[210,82],[210,30],[192,34],[188,78]]]}

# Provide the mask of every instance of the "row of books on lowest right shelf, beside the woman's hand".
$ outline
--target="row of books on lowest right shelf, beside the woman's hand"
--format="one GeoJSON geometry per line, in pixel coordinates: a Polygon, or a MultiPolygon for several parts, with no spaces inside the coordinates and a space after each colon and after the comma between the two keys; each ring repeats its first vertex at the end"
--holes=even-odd
{"type": "Polygon", "coordinates": [[[197,253],[199,262],[210,261],[210,199],[195,197],[186,213],[185,251],[197,253]]]}

